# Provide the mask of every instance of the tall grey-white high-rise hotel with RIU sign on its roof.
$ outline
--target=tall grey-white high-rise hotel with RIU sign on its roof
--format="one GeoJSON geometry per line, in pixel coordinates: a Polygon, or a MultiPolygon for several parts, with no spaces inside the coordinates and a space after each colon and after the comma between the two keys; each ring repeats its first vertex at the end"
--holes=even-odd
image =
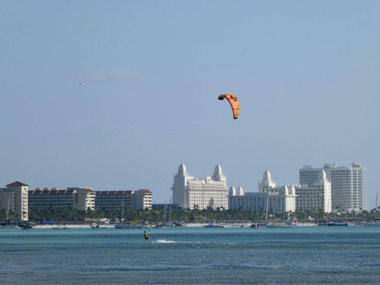
{"type": "Polygon", "coordinates": [[[359,212],[367,209],[367,168],[353,162],[351,167],[325,164],[323,168],[312,168],[304,165],[299,169],[299,183],[312,185],[318,180],[318,173],[324,170],[331,181],[331,209],[354,210],[359,212]]]}

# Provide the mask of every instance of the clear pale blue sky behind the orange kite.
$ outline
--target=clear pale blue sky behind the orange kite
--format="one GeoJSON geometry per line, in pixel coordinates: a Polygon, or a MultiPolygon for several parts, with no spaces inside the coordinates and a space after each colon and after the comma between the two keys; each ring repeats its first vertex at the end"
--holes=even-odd
{"type": "Polygon", "coordinates": [[[367,167],[380,192],[379,1],[1,1],[0,187],[228,187],[367,167]],[[218,95],[241,104],[234,120],[218,95]]]}

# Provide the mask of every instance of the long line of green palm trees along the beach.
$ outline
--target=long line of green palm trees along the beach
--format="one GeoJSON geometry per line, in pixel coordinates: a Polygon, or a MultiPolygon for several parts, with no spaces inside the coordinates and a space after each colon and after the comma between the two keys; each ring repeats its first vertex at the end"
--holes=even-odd
{"type": "MultiPolygon", "coordinates": [[[[378,207],[377,211],[380,209],[378,207]]],[[[57,223],[88,223],[89,220],[100,221],[109,220],[117,222],[121,219],[121,207],[116,207],[115,211],[104,211],[100,208],[95,208],[95,211],[87,209],[87,211],[73,209],[73,207],[54,207],[50,206],[46,209],[38,210],[30,208],[28,210],[28,217],[30,222],[46,222],[53,221],[57,223]]],[[[332,211],[328,213],[328,218],[356,218],[363,220],[375,220],[378,217],[376,209],[370,211],[360,212],[345,212],[344,210],[332,211]]],[[[17,220],[17,214],[9,211],[9,215],[17,220]]],[[[194,205],[194,209],[190,208],[171,208],[165,206],[152,207],[152,209],[131,209],[125,207],[123,209],[124,223],[132,224],[145,224],[145,223],[160,223],[168,220],[182,221],[185,223],[207,223],[207,222],[223,222],[223,223],[257,223],[264,222],[265,220],[275,220],[278,222],[287,221],[289,219],[296,220],[297,222],[315,222],[316,220],[326,219],[326,212],[323,209],[302,209],[285,213],[269,213],[266,217],[264,209],[258,211],[246,211],[242,207],[238,209],[223,209],[212,207],[200,210],[199,206],[194,205]]],[[[380,217],[379,217],[380,218],[380,217]]],[[[6,220],[6,210],[0,210],[0,220],[6,220]]]]}

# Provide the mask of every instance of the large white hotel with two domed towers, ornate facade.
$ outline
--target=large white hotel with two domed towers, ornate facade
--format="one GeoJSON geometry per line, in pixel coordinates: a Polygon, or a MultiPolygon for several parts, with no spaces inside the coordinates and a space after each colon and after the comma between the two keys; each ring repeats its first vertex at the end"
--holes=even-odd
{"type": "Polygon", "coordinates": [[[198,205],[199,209],[213,209],[223,207],[228,209],[228,187],[226,176],[222,173],[220,165],[215,166],[214,174],[206,178],[195,178],[186,171],[182,163],[174,175],[173,204],[179,207],[193,209],[198,205]]]}

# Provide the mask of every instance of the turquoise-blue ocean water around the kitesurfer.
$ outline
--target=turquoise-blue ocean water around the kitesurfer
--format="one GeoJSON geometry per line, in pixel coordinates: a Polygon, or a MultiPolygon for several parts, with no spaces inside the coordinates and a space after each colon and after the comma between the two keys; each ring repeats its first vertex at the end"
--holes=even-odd
{"type": "Polygon", "coordinates": [[[0,229],[0,284],[375,285],[380,228],[0,229]]]}

